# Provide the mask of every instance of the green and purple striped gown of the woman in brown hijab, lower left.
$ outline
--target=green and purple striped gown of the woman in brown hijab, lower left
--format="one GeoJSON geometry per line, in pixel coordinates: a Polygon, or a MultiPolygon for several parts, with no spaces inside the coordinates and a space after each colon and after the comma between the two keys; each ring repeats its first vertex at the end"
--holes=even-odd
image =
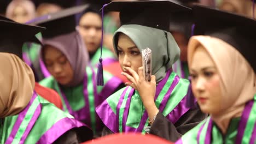
{"type": "Polygon", "coordinates": [[[34,92],[30,103],[18,115],[0,121],[1,143],[79,143],[92,139],[92,131],[71,115],[34,92]],[[63,127],[64,126],[64,127],[63,127]]]}

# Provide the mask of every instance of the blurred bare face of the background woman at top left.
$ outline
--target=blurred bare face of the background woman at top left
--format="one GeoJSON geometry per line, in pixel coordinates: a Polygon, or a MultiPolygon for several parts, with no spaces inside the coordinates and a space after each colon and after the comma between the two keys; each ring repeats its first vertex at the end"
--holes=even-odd
{"type": "Polygon", "coordinates": [[[31,19],[33,19],[33,17],[31,17],[28,14],[28,11],[22,7],[21,5],[18,5],[14,10],[13,10],[13,15],[11,16],[11,19],[19,22],[19,23],[25,23],[31,19]]]}

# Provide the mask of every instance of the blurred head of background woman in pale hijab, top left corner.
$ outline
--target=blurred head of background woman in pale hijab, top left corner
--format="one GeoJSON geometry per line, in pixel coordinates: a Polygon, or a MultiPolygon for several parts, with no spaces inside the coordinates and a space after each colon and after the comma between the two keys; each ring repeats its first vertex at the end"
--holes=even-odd
{"type": "Polygon", "coordinates": [[[30,0],[13,0],[6,10],[6,17],[19,23],[26,23],[36,17],[36,7],[30,0]]]}

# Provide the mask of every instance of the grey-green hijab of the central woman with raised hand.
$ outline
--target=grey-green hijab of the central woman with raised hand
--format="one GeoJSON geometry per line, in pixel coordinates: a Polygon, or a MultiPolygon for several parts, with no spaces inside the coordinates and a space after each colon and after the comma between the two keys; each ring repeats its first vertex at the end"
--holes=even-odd
{"type": "Polygon", "coordinates": [[[156,82],[164,79],[166,71],[179,59],[180,50],[170,32],[141,25],[123,25],[114,33],[116,53],[120,33],[126,34],[139,51],[147,47],[152,50],[152,74],[156,76],[156,82]]]}

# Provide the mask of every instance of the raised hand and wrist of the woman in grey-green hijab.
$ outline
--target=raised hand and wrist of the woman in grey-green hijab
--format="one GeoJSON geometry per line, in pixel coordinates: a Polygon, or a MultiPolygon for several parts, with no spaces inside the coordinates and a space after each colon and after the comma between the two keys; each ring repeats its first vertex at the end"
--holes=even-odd
{"type": "Polygon", "coordinates": [[[151,76],[151,81],[148,82],[144,79],[142,67],[138,68],[138,74],[136,71],[129,67],[125,67],[125,70],[129,71],[129,74],[123,72],[122,75],[125,75],[128,80],[131,82],[126,82],[126,86],[131,86],[136,89],[141,96],[143,105],[145,106],[149,119],[152,119],[157,113],[158,108],[155,106],[155,92],[156,92],[156,81],[155,76],[151,76]]]}

